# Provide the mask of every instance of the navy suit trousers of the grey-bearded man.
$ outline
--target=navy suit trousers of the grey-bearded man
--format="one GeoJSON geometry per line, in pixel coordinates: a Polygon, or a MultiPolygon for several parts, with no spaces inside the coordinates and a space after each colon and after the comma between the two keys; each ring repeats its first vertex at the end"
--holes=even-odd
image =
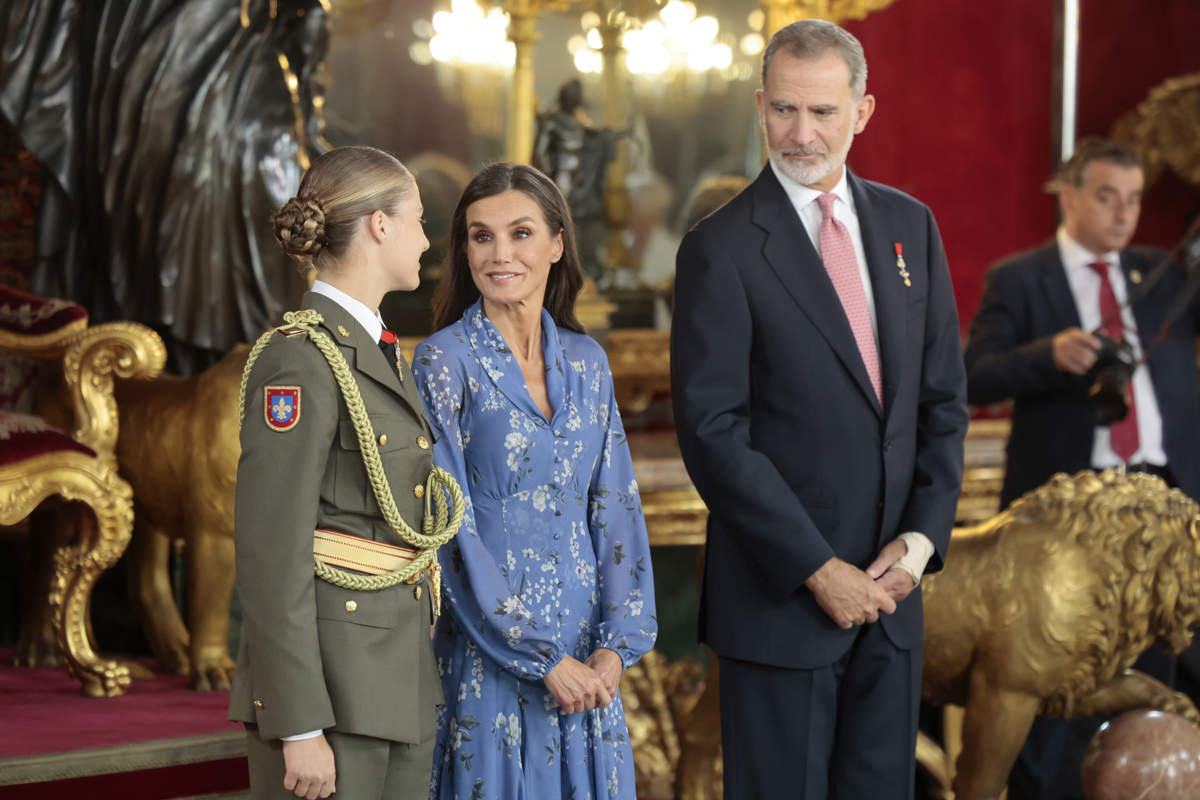
{"type": "Polygon", "coordinates": [[[721,657],[725,800],[911,800],[920,651],[878,624],[816,669],[721,657]]]}

